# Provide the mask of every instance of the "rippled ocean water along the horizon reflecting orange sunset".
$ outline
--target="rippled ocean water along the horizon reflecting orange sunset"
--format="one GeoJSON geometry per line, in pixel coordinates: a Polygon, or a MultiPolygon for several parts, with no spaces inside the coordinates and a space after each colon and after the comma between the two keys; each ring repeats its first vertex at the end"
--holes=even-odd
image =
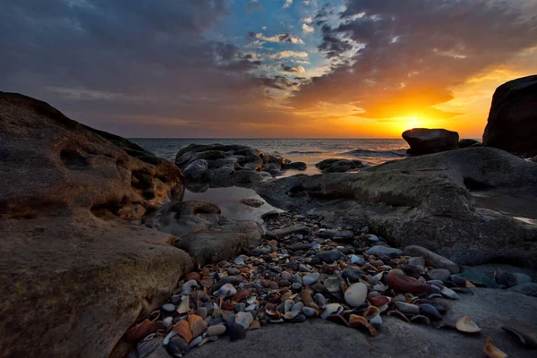
{"type": "Polygon", "coordinates": [[[131,139],[160,158],[175,160],[179,149],[191,144],[242,144],[263,152],[279,154],[308,165],[306,174],[317,173],[315,164],[328,158],[359,159],[368,166],[405,158],[404,140],[308,140],[308,139],[131,139]]]}

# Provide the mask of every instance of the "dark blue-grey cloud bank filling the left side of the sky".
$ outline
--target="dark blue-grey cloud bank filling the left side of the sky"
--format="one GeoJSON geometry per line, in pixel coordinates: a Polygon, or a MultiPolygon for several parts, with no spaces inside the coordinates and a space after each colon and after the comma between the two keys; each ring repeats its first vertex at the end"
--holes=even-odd
{"type": "Polygon", "coordinates": [[[229,3],[4,2],[0,89],[41,98],[73,119],[124,135],[150,135],[148,128],[159,123],[175,129],[168,136],[207,131],[215,118],[232,123],[237,108],[248,113],[267,96],[263,79],[251,74],[260,61],[205,37],[228,16],[229,3]]]}

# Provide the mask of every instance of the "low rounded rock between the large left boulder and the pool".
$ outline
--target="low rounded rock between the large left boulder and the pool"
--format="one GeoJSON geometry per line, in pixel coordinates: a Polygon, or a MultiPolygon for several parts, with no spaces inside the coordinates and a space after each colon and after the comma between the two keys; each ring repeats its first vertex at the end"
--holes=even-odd
{"type": "Polygon", "coordinates": [[[166,204],[145,217],[144,224],[175,235],[175,246],[200,266],[234,257],[263,234],[258,223],[223,217],[215,204],[198,200],[166,204]]]}

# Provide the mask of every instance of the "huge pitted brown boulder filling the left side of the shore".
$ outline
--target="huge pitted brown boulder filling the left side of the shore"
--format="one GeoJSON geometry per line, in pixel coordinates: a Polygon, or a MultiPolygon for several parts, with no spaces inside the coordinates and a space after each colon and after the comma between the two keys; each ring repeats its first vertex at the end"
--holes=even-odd
{"type": "Polygon", "coordinates": [[[0,185],[5,357],[107,357],[193,268],[124,219],[181,200],[178,168],[44,102],[0,92],[0,185]]]}

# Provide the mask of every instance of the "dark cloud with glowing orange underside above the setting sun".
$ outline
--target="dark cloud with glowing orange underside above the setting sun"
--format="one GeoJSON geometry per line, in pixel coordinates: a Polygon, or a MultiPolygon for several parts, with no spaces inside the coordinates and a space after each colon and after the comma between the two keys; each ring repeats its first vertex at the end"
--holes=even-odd
{"type": "Polygon", "coordinates": [[[456,115],[432,106],[474,74],[537,45],[537,18],[520,10],[523,3],[347,0],[331,26],[321,10],[319,48],[339,62],[301,86],[291,104],[353,103],[373,118],[456,115]]]}

